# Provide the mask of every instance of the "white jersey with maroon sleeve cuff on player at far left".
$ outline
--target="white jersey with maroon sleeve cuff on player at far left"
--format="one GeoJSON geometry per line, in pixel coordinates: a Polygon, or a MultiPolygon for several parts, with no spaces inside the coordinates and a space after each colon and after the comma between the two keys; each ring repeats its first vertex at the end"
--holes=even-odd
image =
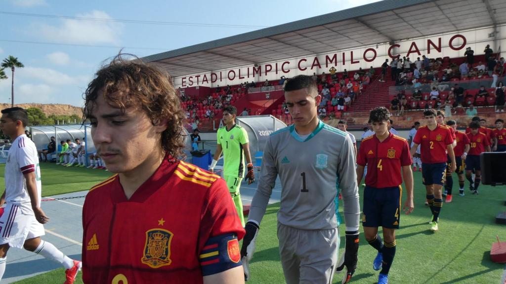
{"type": "MultiPolygon", "coordinates": [[[[31,209],[30,196],[26,188],[26,180],[23,174],[35,172],[37,184],[37,198],[40,204],[42,184],[40,182],[40,167],[38,164],[37,148],[32,140],[25,134],[14,139],[5,166],[5,200],[23,209],[31,209]]],[[[23,211],[23,213],[27,214],[23,211]]]]}

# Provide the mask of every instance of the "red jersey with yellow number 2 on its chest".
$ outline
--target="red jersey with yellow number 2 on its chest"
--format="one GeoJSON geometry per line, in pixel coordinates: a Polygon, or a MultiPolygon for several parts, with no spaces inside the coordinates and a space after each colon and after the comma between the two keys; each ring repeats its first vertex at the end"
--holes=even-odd
{"type": "Polygon", "coordinates": [[[434,130],[421,126],[416,131],[413,142],[420,145],[422,163],[446,163],[446,146],[453,143],[451,127],[438,124],[434,130]]]}

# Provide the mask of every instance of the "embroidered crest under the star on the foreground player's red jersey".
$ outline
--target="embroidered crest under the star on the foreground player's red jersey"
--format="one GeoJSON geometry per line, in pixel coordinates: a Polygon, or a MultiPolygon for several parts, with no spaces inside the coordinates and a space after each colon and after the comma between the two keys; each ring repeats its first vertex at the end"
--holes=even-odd
{"type": "Polygon", "coordinates": [[[151,268],[170,265],[172,263],[170,257],[173,235],[171,231],[160,228],[146,231],[146,245],[141,262],[151,268]]]}

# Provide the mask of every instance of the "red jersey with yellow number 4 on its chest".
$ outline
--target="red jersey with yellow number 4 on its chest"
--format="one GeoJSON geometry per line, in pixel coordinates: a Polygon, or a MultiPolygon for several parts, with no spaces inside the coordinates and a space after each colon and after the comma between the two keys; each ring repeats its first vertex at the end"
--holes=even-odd
{"type": "Polygon", "coordinates": [[[367,165],[365,184],[376,188],[401,185],[401,166],[411,163],[407,140],[392,133],[383,142],[376,134],[363,139],[357,155],[357,164],[367,165]]]}

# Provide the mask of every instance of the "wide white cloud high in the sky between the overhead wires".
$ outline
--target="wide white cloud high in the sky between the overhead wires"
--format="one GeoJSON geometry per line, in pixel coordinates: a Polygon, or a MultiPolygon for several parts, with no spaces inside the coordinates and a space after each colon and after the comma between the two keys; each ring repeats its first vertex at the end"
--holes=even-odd
{"type": "MultiPolygon", "coordinates": [[[[92,11],[89,14],[77,15],[78,17],[111,19],[103,11],[92,11]]],[[[48,24],[33,24],[32,32],[46,41],[78,44],[119,44],[118,35],[122,33],[123,24],[103,21],[72,20],[65,19],[59,26],[48,24]]]]}

